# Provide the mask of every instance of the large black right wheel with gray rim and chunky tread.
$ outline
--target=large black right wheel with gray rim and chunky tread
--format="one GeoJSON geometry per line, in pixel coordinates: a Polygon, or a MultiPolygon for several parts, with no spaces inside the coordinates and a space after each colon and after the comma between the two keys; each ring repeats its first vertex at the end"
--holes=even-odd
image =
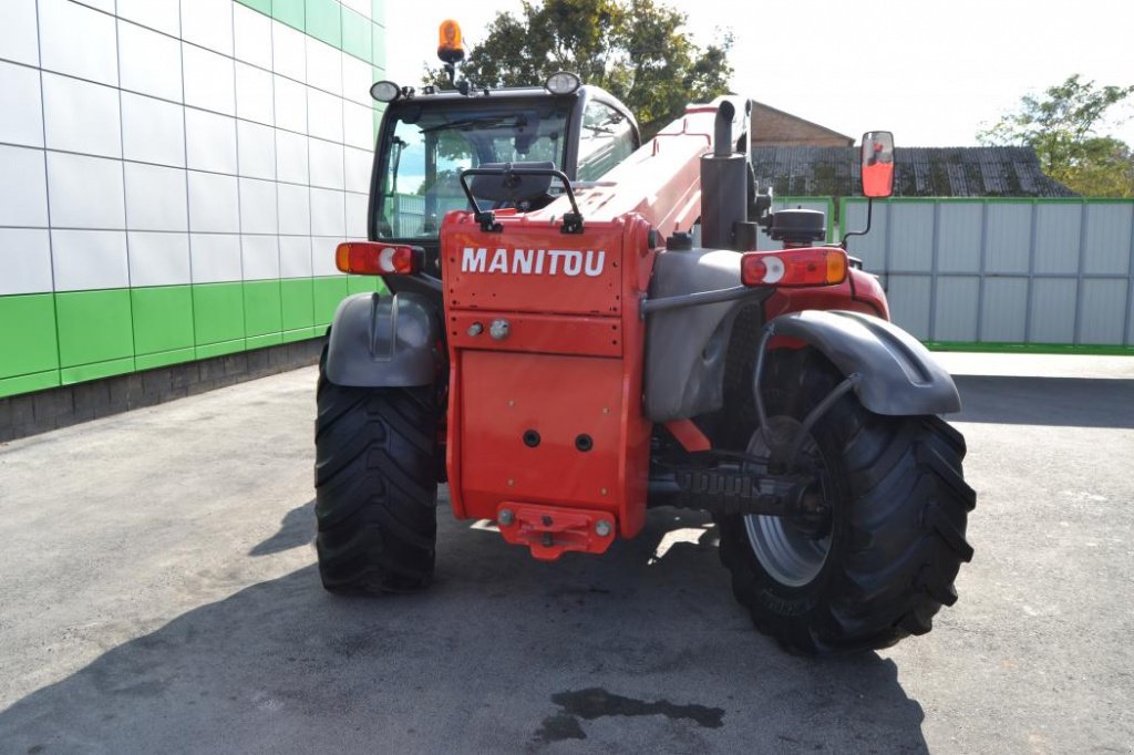
{"type": "MultiPolygon", "coordinates": [[[[763,381],[770,419],[802,419],[840,380],[812,349],[771,358],[763,381]]],[[[787,520],[721,517],[720,557],[736,599],[760,631],[793,652],[878,650],[925,634],[957,600],[953,582],[973,554],[964,438],[934,416],[873,414],[850,392],[806,448],[827,473],[829,527],[801,546],[809,535],[787,520]]]]}

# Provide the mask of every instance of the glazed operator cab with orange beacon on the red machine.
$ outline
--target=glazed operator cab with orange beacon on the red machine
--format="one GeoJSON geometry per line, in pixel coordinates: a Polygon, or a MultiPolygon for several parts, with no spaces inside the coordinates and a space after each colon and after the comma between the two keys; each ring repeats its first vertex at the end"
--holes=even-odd
{"type": "MultiPolygon", "coordinates": [[[[451,31],[446,33],[446,24],[439,57],[449,70],[460,57],[446,46],[454,36],[451,31]]],[[[371,88],[387,108],[371,178],[369,236],[423,247],[423,272],[433,277],[440,277],[438,232],[445,214],[472,210],[460,187],[462,171],[497,163],[543,168],[551,163],[576,188],[585,188],[642,144],[626,105],[600,87],[582,85],[574,74],[552,74],[543,87],[489,90],[468,82],[455,86],[443,91],[426,86],[418,92],[378,82],[371,88]]],[[[545,195],[514,204],[489,183],[479,185],[474,195],[486,207],[522,212],[538,210],[564,192],[552,181],[545,195]]],[[[413,289],[416,283],[398,280],[395,286],[413,289]]]]}

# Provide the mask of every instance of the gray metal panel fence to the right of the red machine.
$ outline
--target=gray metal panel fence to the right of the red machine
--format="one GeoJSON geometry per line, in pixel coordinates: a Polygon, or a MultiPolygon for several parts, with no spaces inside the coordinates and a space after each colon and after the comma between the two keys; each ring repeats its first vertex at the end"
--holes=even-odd
{"type": "MultiPolygon", "coordinates": [[[[865,200],[839,215],[865,228],[865,200]]],[[[1132,201],[894,198],[849,252],[921,339],[1134,347],[1132,201]]]]}

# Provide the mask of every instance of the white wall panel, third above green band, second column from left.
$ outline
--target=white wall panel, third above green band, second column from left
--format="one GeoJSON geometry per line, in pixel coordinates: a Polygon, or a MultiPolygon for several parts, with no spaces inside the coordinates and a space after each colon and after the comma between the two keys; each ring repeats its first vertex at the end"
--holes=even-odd
{"type": "Polygon", "coordinates": [[[43,122],[49,150],[121,158],[118,113],[118,90],[43,74],[43,122]]]}

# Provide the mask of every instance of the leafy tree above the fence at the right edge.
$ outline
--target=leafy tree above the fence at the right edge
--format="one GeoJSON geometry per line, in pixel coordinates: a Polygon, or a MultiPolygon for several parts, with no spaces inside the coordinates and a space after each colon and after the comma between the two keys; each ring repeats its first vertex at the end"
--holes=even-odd
{"type": "Polygon", "coordinates": [[[1021,97],[1019,109],[979,133],[978,141],[1034,149],[1043,172],[1084,196],[1134,197],[1129,145],[1097,132],[1107,110],[1134,94],[1134,86],[1100,87],[1075,74],[1044,94],[1021,97]]]}

